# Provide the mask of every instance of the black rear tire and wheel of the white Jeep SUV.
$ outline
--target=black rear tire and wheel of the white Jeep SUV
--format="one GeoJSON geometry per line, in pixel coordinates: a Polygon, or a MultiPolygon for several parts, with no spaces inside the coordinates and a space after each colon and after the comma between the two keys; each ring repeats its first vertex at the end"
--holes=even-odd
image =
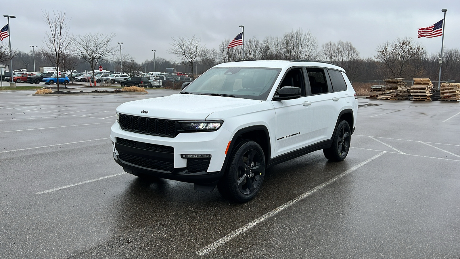
{"type": "Polygon", "coordinates": [[[339,162],[346,158],[350,150],[351,129],[348,122],[340,121],[334,131],[332,146],[328,149],[323,149],[324,156],[330,160],[339,162]]]}

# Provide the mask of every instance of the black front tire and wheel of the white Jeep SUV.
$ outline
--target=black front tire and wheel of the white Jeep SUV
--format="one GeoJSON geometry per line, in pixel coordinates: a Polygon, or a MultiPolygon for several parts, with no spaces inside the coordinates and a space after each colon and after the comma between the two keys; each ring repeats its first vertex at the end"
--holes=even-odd
{"type": "Polygon", "coordinates": [[[256,196],[264,177],[264,151],[257,142],[243,140],[232,151],[230,163],[217,188],[224,198],[243,203],[256,196]]]}

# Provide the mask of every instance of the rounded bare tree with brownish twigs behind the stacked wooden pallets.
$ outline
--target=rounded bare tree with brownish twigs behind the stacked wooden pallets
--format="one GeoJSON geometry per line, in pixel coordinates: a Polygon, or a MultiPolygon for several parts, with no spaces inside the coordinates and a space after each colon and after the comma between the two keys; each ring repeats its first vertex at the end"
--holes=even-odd
{"type": "Polygon", "coordinates": [[[411,38],[396,38],[377,47],[375,59],[380,61],[386,74],[390,77],[416,77],[422,72],[420,61],[425,49],[411,38]]]}

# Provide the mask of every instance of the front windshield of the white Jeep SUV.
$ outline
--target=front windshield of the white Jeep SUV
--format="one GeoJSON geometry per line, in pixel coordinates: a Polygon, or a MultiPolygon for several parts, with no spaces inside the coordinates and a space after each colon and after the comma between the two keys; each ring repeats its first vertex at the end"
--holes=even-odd
{"type": "Polygon", "coordinates": [[[280,71],[279,68],[216,67],[196,78],[184,91],[266,100],[280,71]]]}

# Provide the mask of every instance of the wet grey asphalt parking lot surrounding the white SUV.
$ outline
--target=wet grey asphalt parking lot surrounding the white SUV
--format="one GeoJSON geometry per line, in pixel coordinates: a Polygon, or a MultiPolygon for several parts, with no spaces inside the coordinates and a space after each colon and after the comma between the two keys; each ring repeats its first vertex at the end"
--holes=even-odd
{"type": "Polygon", "coordinates": [[[234,204],[113,161],[116,106],[177,91],[33,92],[0,92],[2,258],[460,258],[458,102],[359,99],[345,161],[276,165],[234,204]]]}

